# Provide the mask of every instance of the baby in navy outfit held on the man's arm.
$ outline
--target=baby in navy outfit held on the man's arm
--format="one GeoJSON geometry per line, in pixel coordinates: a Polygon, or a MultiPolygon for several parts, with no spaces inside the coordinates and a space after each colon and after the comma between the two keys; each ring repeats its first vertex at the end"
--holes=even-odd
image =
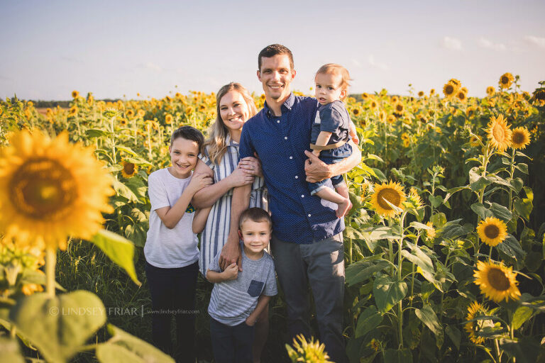
{"type": "MultiPolygon", "coordinates": [[[[348,91],[350,74],[346,68],[329,63],[323,65],[316,72],[316,99],[321,105],[316,112],[312,124],[311,144],[312,153],[326,164],[340,162],[352,154],[349,138],[355,138],[356,130],[351,128],[348,111],[343,104],[348,91]]],[[[352,203],[348,197],[348,186],[342,175],[331,177],[336,192],[326,187],[326,180],[318,183],[309,183],[310,194],[337,204],[336,215],[344,216],[352,203]]]]}

